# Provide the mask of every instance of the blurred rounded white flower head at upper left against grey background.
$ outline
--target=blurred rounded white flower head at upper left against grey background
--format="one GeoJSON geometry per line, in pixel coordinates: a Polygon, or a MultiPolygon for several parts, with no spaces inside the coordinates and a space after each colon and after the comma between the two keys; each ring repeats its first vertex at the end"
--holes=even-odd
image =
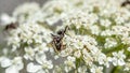
{"type": "Polygon", "coordinates": [[[14,10],[13,16],[16,17],[20,23],[26,23],[29,16],[32,16],[39,10],[40,6],[36,2],[24,3],[14,10]]]}

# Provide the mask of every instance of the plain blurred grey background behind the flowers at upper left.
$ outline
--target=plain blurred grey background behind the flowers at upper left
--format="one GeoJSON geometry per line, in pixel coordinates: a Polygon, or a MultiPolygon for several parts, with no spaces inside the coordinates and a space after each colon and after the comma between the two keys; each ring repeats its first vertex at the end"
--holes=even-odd
{"type": "MultiPolygon", "coordinates": [[[[21,5],[25,2],[38,2],[42,6],[42,4],[46,1],[47,0],[0,0],[0,15],[3,13],[8,13],[8,14],[12,15],[12,12],[14,11],[14,9],[17,5],[21,5]]],[[[0,26],[0,44],[1,45],[2,45],[3,39],[4,39],[4,35],[2,33],[2,28],[3,27],[0,26]]]]}

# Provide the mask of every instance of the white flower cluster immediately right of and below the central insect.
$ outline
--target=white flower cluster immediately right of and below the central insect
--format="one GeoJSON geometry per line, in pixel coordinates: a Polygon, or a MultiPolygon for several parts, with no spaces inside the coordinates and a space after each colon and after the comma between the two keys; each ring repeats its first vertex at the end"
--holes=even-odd
{"type": "MultiPolygon", "coordinates": [[[[67,57],[65,60],[65,72],[69,72],[72,70],[77,70],[80,72],[83,69],[91,69],[96,73],[98,65],[109,67],[109,57],[107,58],[105,54],[101,52],[98,47],[98,42],[95,39],[89,35],[77,35],[74,33],[69,33],[69,35],[65,35],[63,40],[63,44],[66,45],[66,48],[60,53],[58,56],[67,57]],[[96,62],[96,64],[95,64],[96,62]]],[[[103,67],[101,67],[101,72],[103,67]]],[[[83,70],[84,73],[87,70],[83,70]]],[[[64,70],[63,70],[64,71],[64,70]]]]}

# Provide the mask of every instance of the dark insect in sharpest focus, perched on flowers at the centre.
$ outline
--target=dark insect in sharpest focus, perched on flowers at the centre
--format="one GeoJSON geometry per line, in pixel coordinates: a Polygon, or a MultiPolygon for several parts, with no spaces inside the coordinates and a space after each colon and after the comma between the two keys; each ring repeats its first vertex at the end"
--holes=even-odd
{"type": "Polygon", "coordinates": [[[51,33],[53,39],[51,42],[51,45],[56,53],[61,52],[62,49],[65,49],[65,45],[63,44],[62,40],[67,29],[68,29],[68,26],[66,26],[64,30],[62,29],[57,31],[56,34],[51,33]]]}

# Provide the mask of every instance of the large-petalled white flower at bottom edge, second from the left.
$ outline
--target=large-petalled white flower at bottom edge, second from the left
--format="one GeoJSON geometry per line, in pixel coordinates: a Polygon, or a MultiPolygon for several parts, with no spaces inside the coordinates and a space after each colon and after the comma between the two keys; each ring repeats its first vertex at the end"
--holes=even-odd
{"type": "Polygon", "coordinates": [[[28,63],[27,71],[30,73],[49,73],[49,70],[53,68],[52,61],[47,60],[44,54],[36,55],[37,63],[28,63]]]}

